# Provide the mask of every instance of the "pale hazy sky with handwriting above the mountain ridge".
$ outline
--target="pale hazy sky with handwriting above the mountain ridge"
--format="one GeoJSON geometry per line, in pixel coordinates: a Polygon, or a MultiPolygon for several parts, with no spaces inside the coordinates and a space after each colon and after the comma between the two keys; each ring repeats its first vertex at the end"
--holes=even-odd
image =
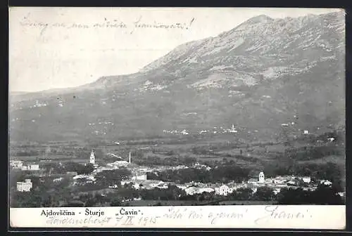
{"type": "Polygon", "coordinates": [[[339,10],[11,8],[10,91],[80,86],[104,75],[134,73],[180,44],[216,36],[256,15],[284,18],[331,11],[339,10]],[[135,22],[175,27],[142,28],[135,22]]]}

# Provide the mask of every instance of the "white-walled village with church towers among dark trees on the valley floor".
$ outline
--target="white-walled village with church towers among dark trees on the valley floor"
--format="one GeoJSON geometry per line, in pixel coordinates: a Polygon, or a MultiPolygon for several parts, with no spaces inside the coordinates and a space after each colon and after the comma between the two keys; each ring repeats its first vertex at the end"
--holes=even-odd
{"type": "MultiPolygon", "coordinates": [[[[45,176],[41,173],[41,168],[39,164],[28,163],[25,164],[21,161],[11,160],[10,162],[12,169],[17,169],[21,171],[30,171],[32,173],[37,173],[39,177],[45,176]]],[[[89,162],[86,165],[92,166],[91,173],[80,173],[77,171],[66,171],[65,175],[54,178],[53,184],[59,183],[63,180],[65,176],[72,178],[71,185],[94,185],[96,183],[96,176],[103,171],[113,171],[117,169],[126,169],[130,171],[130,176],[120,179],[113,184],[108,185],[108,188],[118,189],[121,186],[130,186],[134,190],[152,190],[154,188],[158,189],[168,189],[170,185],[176,186],[180,190],[184,190],[187,195],[197,195],[203,194],[204,192],[213,193],[215,195],[227,196],[231,195],[232,192],[240,189],[251,189],[255,193],[258,188],[267,187],[272,189],[275,195],[277,195],[283,188],[297,189],[301,188],[305,191],[314,191],[318,188],[318,185],[331,186],[332,182],[329,180],[312,180],[310,176],[276,176],[274,178],[265,178],[265,173],[260,171],[256,178],[249,178],[247,180],[241,181],[241,183],[236,183],[235,181],[230,181],[227,183],[200,183],[199,181],[191,181],[189,183],[174,183],[168,181],[161,181],[158,179],[149,179],[149,173],[158,173],[158,171],[167,170],[180,170],[180,169],[201,169],[203,171],[210,171],[211,167],[205,164],[199,164],[199,162],[193,163],[191,165],[179,165],[179,166],[140,166],[132,163],[131,152],[128,157],[128,162],[125,160],[118,160],[115,162],[108,163],[106,165],[96,164],[96,157],[94,151],[92,150],[89,157],[89,162]]],[[[216,166],[215,166],[216,168],[216,166]]],[[[35,175],[35,174],[34,174],[35,175]]],[[[47,175],[47,174],[46,174],[47,175]]],[[[19,192],[28,192],[34,188],[33,183],[30,178],[26,178],[25,181],[18,181],[16,184],[16,190],[19,192]]],[[[339,192],[339,195],[344,196],[344,192],[339,192]]]]}

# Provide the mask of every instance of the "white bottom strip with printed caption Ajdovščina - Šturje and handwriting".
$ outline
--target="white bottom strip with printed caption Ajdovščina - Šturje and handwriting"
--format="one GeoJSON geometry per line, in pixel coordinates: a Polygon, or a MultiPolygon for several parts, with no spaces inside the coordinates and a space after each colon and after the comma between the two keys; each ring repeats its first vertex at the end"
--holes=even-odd
{"type": "Polygon", "coordinates": [[[343,230],[346,206],[11,208],[13,228],[272,228],[343,230]]]}

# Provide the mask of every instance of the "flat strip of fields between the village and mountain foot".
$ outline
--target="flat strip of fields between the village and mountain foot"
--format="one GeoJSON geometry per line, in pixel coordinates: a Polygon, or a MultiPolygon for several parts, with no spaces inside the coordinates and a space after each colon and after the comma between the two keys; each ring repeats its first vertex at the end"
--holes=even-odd
{"type": "Polygon", "coordinates": [[[132,152],[132,162],[139,164],[163,164],[170,159],[185,159],[198,162],[232,162],[239,166],[263,168],[267,164],[295,162],[296,164],[334,162],[344,166],[344,151],[339,155],[329,154],[330,150],[344,150],[341,143],[318,144],[320,136],[303,136],[290,142],[261,141],[246,142],[235,135],[217,136],[169,136],[128,140],[100,140],[88,142],[49,142],[11,145],[10,159],[26,162],[51,160],[53,162],[88,162],[90,151],[94,149],[97,163],[113,162],[117,155],[127,160],[132,152]],[[321,147],[326,147],[322,149],[321,147]],[[306,149],[307,151],[306,151],[306,149]],[[286,154],[289,150],[289,156],[286,154]],[[315,152],[312,152],[315,151],[315,152]],[[308,152],[309,151],[309,152],[308,152]],[[327,152],[325,154],[325,152],[327,152]],[[25,155],[28,153],[29,155],[25,155]],[[320,155],[317,156],[315,154],[320,155]],[[20,154],[20,155],[18,155],[20,154]],[[113,154],[113,155],[110,155],[113,154]],[[299,155],[299,158],[298,158],[299,155]],[[313,156],[315,155],[315,156],[313,156]],[[296,158],[297,157],[297,158],[296,158]]]}

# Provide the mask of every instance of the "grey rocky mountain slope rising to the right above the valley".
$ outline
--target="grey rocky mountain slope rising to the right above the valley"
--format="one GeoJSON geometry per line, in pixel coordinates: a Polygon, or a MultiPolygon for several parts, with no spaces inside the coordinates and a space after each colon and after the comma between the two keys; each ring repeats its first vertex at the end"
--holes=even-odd
{"type": "Polygon", "coordinates": [[[344,13],[259,15],[182,44],[136,74],[11,96],[11,139],[209,133],[232,124],[238,138],[277,138],[282,124],[298,133],[335,129],[345,122],[344,30],[344,13]]]}

